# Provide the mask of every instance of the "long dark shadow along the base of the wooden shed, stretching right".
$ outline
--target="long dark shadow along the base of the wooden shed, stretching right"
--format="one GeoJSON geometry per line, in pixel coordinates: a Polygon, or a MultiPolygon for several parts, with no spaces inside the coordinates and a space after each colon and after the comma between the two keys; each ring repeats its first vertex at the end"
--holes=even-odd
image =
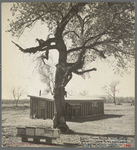
{"type": "Polygon", "coordinates": [[[115,114],[104,114],[104,115],[96,115],[96,116],[85,116],[85,117],[79,117],[79,118],[67,118],[67,122],[87,122],[87,121],[97,121],[97,120],[102,120],[102,119],[108,119],[108,118],[120,118],[123,115],[115,115],[115,114]]]}

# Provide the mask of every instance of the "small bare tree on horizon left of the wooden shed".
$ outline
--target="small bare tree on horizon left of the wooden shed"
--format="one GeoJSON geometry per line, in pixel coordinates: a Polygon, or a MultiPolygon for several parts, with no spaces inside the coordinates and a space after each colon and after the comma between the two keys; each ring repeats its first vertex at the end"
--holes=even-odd
{"type": "Polygon", "coordinates": [[[21,96],[25,94],[24,89],[22,89],[21,87],[17,87],[17,88],[13,87],[11,92],[15,100],[16,107],[18,107],[18,103],[19,103],[21,96]]]}

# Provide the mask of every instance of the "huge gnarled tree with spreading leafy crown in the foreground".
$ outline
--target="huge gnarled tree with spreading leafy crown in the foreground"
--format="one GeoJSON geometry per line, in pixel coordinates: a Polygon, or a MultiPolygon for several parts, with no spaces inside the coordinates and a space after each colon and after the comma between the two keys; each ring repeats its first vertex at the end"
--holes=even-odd
{"type": "MultiPolygon", "coordinates": [[[[21,2],[11,8],[14,20],[9,32],[20,37],[26,28],[39,20],[47,24],[52,38],[36,39],[38,46],[22,48],[23,53],[41,52],[42,60],[49,51],[59,53],[56,65],[54,101],[56,107],[54,128],[69,131],[65,121],[65,87],[72,73],[81,75],[96,68],[87,68],[96,58],[114,57],[119,67],[135,58],[135,3],[133,2],[21,2]],[[68,44],[71,40],[71,45],[68,44]]],[[[45,35],[47,37],[47,35],[45,35]]]]}

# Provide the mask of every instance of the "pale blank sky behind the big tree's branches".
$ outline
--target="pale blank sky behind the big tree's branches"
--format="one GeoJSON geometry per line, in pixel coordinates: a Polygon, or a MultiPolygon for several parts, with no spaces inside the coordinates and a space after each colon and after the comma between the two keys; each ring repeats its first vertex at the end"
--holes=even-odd
{"type": "MultiPolygon", "coordinates": [[[[33,54],[24,54],[11,42],[12,40],[20,46],[27,48],[37,46],[36,38],[46,39],[48,29],[46,25],[36,23],[33,29],[27,29],[23,35],[17,39],[5,32],[9,27],[8,18],[11,18],[10,3],[2,3],[2,99],[13,99],[12,89],[21,87],[27,95],[39,95],[39,90],[46,89],[46,85],[40,80],[40,75],[36,68],[37,61],[34,61],[33,54]]],[[[58,52],[52,50],[50,55],[53,56],[54,64],[58,61],[58,52]]],[[[123,77],[114,74],[114,67],[110,60],[97,60],[90,67],[97,68],[97,71],[89,73],[89,77],[74,75],[72,80],[66,86],[68,92],[73,91],[78,95],[82,91],[87,91],[88,96],[105,95],[102,90],[104,85],[109,85],[114,80],[119,80],[117,86],[119,93],[117,96],[134,96],[135,95],[135,71],[131,69],[130,74],[124,74],[123,77]]]]}

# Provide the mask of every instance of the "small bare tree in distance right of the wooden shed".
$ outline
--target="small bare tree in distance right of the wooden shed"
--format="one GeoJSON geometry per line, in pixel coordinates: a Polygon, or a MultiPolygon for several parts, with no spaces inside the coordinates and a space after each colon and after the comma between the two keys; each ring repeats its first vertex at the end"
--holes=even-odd
{"type": "Polygon", "coordinates": [[[119,81],[113,81],[110,85],[105,85],[103,89],[108,94],[108,96],[113,98],[114,104],[116,105],[116,93],[119,92],[119,89],[117,89],[117,85],[119,84],[119,81]]]}

